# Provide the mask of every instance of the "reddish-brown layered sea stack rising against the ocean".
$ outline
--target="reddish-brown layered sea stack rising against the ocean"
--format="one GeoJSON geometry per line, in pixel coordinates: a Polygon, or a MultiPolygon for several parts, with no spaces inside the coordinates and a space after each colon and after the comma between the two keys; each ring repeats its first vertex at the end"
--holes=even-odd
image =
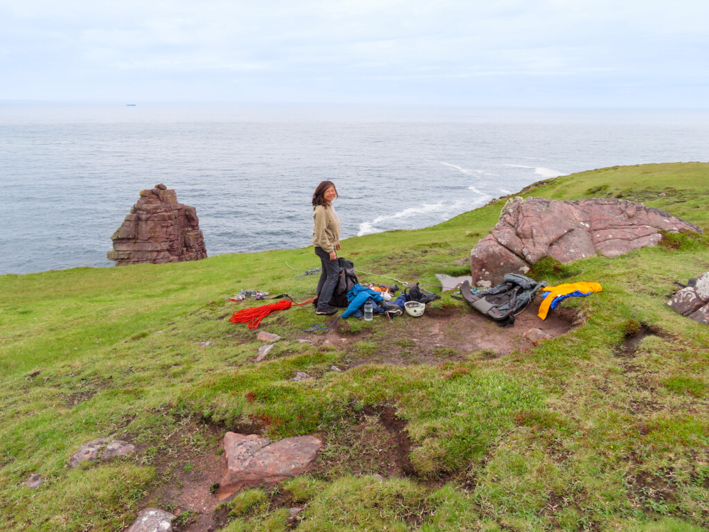
{"type": "Polygon", "coordinates": [[[194,207],[177,202],[177,194],[164,184],[141,190],[138,203],[111,236],[108,259],[117,266],[164,264],[199,260],[207,256],[194,207]]]}

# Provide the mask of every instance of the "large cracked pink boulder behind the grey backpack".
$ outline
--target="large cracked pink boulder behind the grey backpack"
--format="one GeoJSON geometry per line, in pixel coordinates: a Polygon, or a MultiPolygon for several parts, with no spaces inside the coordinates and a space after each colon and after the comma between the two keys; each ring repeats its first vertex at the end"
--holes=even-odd
{"type": "Polygon", "coordinates": [[[500,220],[471,251],[473,282],[481,288],[501,283],[506,273],[526,273],[550,256],[571,262],[601,253],[617,257],[657,244],[659,231],[700,228],[659,209],[619,199],[557,201],[515,198],[500,220]]]}

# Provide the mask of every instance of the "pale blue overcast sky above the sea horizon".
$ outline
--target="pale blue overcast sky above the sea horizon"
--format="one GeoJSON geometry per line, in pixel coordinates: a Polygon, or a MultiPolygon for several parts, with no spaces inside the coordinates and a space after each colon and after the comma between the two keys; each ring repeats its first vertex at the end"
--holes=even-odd
{"type": "Polygon", "coordinates": [[[709,106],[709,1],[0,0],[0,99],[709,106]]]}

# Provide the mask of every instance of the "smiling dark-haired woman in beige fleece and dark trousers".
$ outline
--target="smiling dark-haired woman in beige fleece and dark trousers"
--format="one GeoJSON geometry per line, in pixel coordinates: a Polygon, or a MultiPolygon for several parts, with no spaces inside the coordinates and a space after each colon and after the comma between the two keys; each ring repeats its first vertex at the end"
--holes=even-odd
{"type": "Polygon", "coordinates": [[[340,249],[340,221],[337,219],[333,200],[337,198],[337,189],[331,181],[318,184],[313,194],[313,245],[315,254],[320,257],[323,272],[318,282],[318,305],[316,314],[335,314],[337,310],[330,306],[340,268],[337,264],[337,250],[340,249]]]}

